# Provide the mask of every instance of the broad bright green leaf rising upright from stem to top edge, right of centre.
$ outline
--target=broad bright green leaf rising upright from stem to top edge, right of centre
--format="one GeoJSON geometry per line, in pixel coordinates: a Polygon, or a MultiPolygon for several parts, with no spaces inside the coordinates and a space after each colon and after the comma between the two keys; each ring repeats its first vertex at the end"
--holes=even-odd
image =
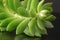
{"type": "Polygon", "coordinates": [[[36,16],[38,0],[32,0],[30,5],[29,14],[31,17],[36,16]]]}

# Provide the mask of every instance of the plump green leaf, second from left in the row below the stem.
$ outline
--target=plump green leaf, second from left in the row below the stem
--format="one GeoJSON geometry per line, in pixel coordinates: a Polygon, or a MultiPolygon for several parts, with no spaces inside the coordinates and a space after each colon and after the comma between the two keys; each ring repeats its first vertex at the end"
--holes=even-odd
{"type": "Polygon", "coordinates": [[[18,26],[18,24],[22,21],[23,19],[15,19],[13,21],[11,21],[8,25],[7,25],[7,28],[6,30],[11,32],[13,30],[15,30],[18,26]]]}

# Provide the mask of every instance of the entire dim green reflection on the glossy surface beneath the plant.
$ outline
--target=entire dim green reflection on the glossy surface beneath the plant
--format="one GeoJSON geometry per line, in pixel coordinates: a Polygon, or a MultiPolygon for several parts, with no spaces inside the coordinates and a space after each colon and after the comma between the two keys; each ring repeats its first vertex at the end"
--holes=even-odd
{"type": "Polygon", "coordinates": [[[14,33],[0,32],[0,40],[40,40],[41,38],[28,37],[26,35],[16,36],[14,33]]]}

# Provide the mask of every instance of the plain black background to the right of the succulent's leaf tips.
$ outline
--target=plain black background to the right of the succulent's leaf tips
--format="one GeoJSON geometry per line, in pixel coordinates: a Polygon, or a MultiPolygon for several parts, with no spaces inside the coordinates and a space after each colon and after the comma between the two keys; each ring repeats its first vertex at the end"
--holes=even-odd
{"type": "Polygon", "coordinates": [[[45,2],[53,2],[52,14],[56,16],[53,21],[54,29],[48,29],[47,40],[60,40],[60,0],[45,0],[45,2]]]}

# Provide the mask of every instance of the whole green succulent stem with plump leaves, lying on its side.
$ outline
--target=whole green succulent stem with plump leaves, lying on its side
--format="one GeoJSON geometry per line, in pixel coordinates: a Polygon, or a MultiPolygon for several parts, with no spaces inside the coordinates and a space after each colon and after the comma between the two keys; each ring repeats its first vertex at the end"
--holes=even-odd
{"type": "Polygon", "coordinates": [[[53,28],[52,3],[44,0],[0,0],[0,31],[41,37],[53,28]]]}

